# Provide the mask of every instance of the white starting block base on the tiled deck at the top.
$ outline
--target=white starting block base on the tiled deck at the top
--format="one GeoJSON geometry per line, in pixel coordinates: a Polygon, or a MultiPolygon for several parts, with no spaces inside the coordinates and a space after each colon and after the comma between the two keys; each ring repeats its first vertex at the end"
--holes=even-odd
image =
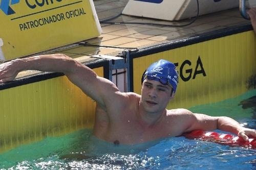
{"type": "MultiPolygon", "coordinates": [[[[199,15],[239,6],[234,0],[198,0],[199,15]]],[[[197,15],[196,0],[130,0],[122,14],[163,20],[180,20],[197,15]]]]}

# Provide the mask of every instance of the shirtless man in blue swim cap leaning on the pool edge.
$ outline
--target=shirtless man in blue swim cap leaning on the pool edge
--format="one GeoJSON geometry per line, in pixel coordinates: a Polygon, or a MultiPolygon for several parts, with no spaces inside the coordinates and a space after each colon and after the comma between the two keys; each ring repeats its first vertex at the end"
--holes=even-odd
{"type": "Polygon", "coordinates": [[[0,83],[13,80],[21,70],[63,72],[71,82],[97,102],[94,135],[108,142],[136,144],[193,130],[220,129],[248,140],[256,130],[241,127],[229,117],[191,113],[186,109],[167,110],[178,85],[173,63],[159,60],[147,68],[141,95],[120,92],[114,83],[98,77],[87,66],[66,55],[54,54],[15,59],[0,65],[0,83]]]}

